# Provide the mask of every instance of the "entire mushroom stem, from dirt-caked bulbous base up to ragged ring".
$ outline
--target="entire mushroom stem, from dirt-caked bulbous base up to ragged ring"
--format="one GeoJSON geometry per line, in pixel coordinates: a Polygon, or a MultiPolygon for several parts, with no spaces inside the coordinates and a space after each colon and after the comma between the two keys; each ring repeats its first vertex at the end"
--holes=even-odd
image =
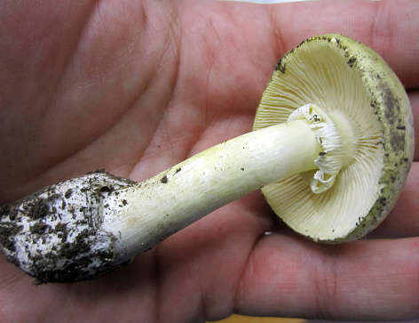
{"type": "Polygon", "coordinates": [[[3,206],[4,254],[39,283],[93,279],[250,191],[307,171],[322,180],[330,141],[323,134],[336,126],[310,104],[291,116],[145,182],[87,174],[3,206]]]}

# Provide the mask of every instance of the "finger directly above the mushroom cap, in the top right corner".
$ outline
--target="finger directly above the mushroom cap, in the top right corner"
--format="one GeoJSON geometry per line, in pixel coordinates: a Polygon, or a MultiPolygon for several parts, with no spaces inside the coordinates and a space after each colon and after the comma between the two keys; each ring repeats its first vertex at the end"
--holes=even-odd
{"type": "Polygon", "coordinates": [[[333,1],[281,4],[273,12],[277,41],[287,51],[303,39],[338,33],[352,36],[383,56],[407,88],[419,86],[419,2],[333,1]]]}

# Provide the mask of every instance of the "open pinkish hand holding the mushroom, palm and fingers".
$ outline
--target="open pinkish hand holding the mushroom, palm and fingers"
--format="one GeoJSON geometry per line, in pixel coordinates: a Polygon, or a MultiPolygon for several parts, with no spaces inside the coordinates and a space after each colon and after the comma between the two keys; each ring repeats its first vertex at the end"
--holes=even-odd
{"type": "MultiPolygon", "coordinates": [[[[275,61],[317,34],[379,52],[417,120],[418,10],[415,0],[0,1],[0,203],[97,168],[141,181],[249,132],[275,61]]],[[[0,321],[415,319],[418,188],[415,162],[383,225],[342,246],[290,233],[255,192],[93,281],[35,287],[0,257],[0,321]]]]}

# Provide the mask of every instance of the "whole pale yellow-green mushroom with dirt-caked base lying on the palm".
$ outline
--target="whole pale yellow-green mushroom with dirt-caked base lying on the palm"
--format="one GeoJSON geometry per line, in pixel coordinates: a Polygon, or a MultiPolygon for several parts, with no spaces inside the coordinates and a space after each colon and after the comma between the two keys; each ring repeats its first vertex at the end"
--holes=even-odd
{"type": "Polygon", "coordinates": [[[0,245],[37,283],[93,279],[262,188],[300,234],[360,238],[394,206],[413,159],[407,94],[376,52],[314,36],[276,65],[254,124],[145,182],[104,171],[0,208],[0,245]]]}

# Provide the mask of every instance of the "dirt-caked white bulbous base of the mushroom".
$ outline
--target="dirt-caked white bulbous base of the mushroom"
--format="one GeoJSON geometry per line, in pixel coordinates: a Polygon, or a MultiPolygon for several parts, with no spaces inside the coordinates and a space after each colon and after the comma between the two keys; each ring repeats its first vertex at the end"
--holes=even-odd
{"type": "Polygon", "coordinates": [[[134,182],[102,170],[84,177],[81,185],[50,186],[0,208],[6,259],[26,268],[36,284],[91,279],[121,265],[115,261],[116,238],[101,230],[94,206],[134,182]],[[69,222],[72,230],[67,230],[69,222]],[[21,258],[20,249],[28,251],[27,258],[21,258]]]}

